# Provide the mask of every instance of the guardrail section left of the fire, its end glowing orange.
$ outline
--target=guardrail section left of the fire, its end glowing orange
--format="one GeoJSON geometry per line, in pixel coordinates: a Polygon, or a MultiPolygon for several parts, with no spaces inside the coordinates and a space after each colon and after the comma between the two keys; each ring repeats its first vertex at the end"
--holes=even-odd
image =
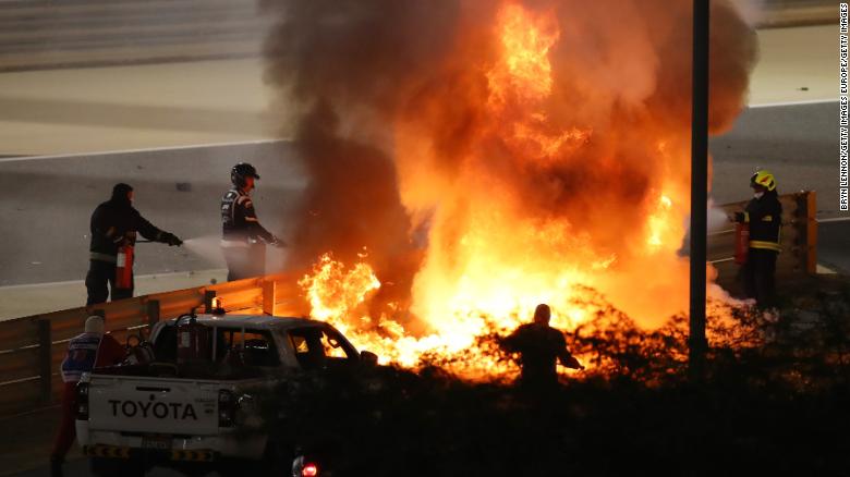
{"type": "Polygon", "coordinates": [[[224,309],[243,314],[304,316],[292,276],[277,274],[196,289],[65,309],[0,322],[0,416],[58,402],[59,366],[68,341],[81,333],[92,315],[106,318],[106,329],[119,343],[161,319],[209,308],[218,296],[224,309]]]}

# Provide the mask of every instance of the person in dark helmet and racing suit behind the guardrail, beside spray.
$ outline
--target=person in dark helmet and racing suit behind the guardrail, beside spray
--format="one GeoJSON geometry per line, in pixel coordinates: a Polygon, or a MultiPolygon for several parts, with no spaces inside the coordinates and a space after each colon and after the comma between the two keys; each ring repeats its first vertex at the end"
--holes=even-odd
{"type": "Polygon", "coordinates": [[[233,188],[221,197],[221,250],[228,264],[228,281],[266,273],[266,244],[284,246],[283,242],[259,224],[251,191],[259,174],[253,166],[240,162],[230,170],[233,188]]]}

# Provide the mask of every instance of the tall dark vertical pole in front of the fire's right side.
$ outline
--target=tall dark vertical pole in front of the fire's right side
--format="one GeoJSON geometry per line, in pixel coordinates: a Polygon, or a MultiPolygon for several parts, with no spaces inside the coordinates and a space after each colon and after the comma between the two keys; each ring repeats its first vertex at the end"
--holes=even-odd
{"type": "Polygon", "coordinates": [[[708,203],[708,25],[711,0],[693,0],[693,109],[691,117],[691,314],[688,368],[705,370],[705,261],[708,203]]]}

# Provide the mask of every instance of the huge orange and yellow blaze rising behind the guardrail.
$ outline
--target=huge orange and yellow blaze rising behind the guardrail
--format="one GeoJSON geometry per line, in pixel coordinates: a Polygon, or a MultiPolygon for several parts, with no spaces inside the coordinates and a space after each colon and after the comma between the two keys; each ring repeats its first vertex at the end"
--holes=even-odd
{"type": "MultiPolygon", "coordinates": [[[[479,110],[470,114],[474,124],[465,147],[447,151],[438,144],[435,124],[446,120],[441,113],[454,111],[451,98],[428,98],[433,111],[401,114],[393,124],[402,203],[414,225],[425,223],[428,232],[412,304],[401,315],[412,314],[425,323],[425,331],[410,332],[402,325],[409,321],[392,310],[382,316],[365,310],[371,294],[381,286],[367,257],[348,268],[324,255],[299,282],[313,317],[330,321],[384,363],[415,366],[436,357],[466,377],[505,377],[515,367],[499,360],[496,344],[482,337],[510,332],[527,321],[539,303],[550,304],[552,326],[561,329],[572,329],[598,311],[575,305],[588,302],[581,299],[587,288],[649,325],[683,310],[687,303],[688,262],[677,250],[684,234],[688,176],[672,170],[687,142],[648,120],[638,133],[615,130],[600,137],[595,123],[570,114],[566,101],[578,86],[564,86],[569,78],[563,71],[569,69],[552,63],[552,54],[567,48],[554,11],[506,1],[491,38],[494,57],[473,65],[484,70],[486,95],[471,88],[470,96],[478,101],[467,99],[479,110]],[[656,155],[667,170],[641,171],[640,155],[620,160],[619,143],[638,139],[641,154],[656,155]],[[457,169],[428,169],[446,154],[454,155],[457,169]],[[588,157],[598,167],[576,167],[588,157]],[[595,184],[611,178],[610,183],[622,185],[630,168],[641,186],[635,186],[631,204],[622,198],[628,191],[617,191],[619,203],[614,205],[605,200],[610,191],[595,191],[598,201],[564,205],[597,209],[593,213],[571,215],[535,204],[559,204],[570,186],[581,186],[578,181],[564,184],[573,169],[594,174],[595,184]],[[515,179],[524,175],[536,182],[519,184],[515,179]],[[599,218],[623,204],[634,213],[599,218]],[[576,227],[579,221],[587,227],[576,227]],[[659,269],[665,273],[657,273],[659,269]]],[[[581,85],[582,93],[602,96],[587,90],[593,86],[581,85]]]]}

